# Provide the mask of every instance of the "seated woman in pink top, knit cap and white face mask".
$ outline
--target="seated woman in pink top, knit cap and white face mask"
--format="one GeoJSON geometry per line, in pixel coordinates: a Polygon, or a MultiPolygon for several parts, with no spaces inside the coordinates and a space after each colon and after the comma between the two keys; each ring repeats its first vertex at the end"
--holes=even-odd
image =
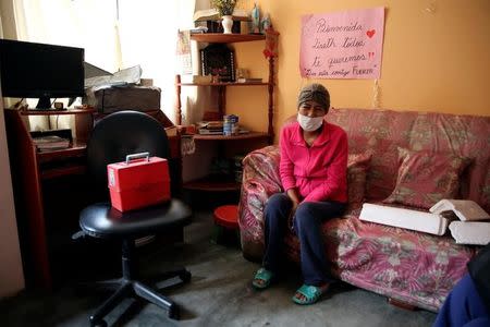
{"type": "Polygon", "coordinates": [[[272,195],[266,204],[266,251],[262,267],[253,286],[266,289],[279,274],[287,226],[301,243],[304,284],[293,301],[315,303],[334,281],[326,257],[321,226],[339,217],[347,202],[347,136],[323,120],[330,95],[321,84],[305,86],[297,100],[297,122],[281,131],[280,175],[285,193],[272,195]]]}

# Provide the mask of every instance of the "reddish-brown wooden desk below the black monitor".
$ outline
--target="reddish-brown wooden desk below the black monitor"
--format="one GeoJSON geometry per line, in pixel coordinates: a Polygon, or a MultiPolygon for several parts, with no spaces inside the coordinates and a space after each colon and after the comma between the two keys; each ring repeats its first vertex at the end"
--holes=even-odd
{"type": "Polygon", "coordinates": [[[84,172],[85,166],[82,158],[85,156],[86,146],[85,143],[75,141],[74,145],[66,149],[38,153],[23,119],[29,114],[91,114],[93,110],[73,112],[68,110],[33,111],[5,109],[5,128],[24,270],[27,268],[27,271],[25,271],[27,286],[34,283],[50,288],[52,280],[49,267],[41,181],[74,172],[84,172]],[[63,165],[63,167],[57,169],[54,169],[56,165],[52,165],[52,169],[42,169],[41,164],[56,162],[60,159],[75,160],[70,160],[71,165],[63,165]],[[28,238],[28,242],[22,240],[22,238],[28,238]]]}

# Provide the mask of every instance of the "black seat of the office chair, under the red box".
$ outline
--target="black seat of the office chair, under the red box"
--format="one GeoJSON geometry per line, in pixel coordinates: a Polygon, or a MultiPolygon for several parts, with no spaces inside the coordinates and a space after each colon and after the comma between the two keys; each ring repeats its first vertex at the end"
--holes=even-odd
{"type": "Polygon", "coordinates": [[[119,211],[110,203],[98,203],[82,210],[79,227],[94,238],[128,239],[185,226],[191,219],[191,208],[176,198],[126,213],[119,211]]]}

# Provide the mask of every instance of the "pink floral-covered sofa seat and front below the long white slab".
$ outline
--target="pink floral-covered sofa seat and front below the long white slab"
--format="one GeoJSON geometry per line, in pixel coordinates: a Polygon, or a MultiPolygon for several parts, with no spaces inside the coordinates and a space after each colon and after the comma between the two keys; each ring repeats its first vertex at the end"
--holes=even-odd
{"type": "MultiPolygon", "coordinates": [[[[437,312],[467,271],[476,249],[438,237],[357,218],[322,225],[331,272],[359,288],[437,312]]],[[[299,262],[299,240],[285,238],[285,253],[299,262]]]]}

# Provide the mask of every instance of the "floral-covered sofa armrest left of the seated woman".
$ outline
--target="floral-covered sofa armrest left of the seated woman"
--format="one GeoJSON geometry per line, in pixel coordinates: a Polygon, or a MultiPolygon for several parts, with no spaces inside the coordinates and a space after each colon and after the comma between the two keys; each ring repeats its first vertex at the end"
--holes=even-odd
{"type": "Polygon", "coordinates": [[[254,150],[243,159],[238,223],[242,251],[248,259],[257,261],[262,256],[264,207],[272,194],[282,192],[279,160],[278,146],[254,150]]]}

